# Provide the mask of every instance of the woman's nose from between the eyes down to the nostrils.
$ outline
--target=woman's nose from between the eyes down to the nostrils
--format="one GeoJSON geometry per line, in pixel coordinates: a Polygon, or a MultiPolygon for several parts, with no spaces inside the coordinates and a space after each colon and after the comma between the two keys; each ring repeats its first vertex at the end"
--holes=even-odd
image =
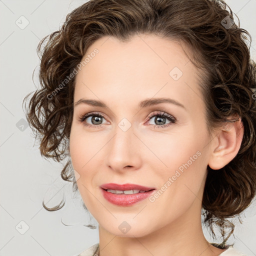
{"type": "Polygon", "coordinates": [[[123,131],[119,127],[107,143],[105,163],[114,171],[123,172],[138,169],[141,164],[141,141],[133,133],[132,127],[123,131]]]}

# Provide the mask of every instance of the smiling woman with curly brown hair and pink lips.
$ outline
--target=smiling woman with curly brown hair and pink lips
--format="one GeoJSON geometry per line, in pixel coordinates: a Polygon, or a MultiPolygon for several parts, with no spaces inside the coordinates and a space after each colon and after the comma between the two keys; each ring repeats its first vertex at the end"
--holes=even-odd
{"type": "Polygon", "coordinates": [[[98,222],[80,256],[243,255],[227,218],[255,195],[256,66],[225,8],[91,0],[49,36],[27,119],[98,222]]]}

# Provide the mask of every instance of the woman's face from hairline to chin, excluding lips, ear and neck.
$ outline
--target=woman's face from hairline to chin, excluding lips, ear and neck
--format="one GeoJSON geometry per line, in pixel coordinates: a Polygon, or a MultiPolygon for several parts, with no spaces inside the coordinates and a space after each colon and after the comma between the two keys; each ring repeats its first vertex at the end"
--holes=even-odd
{"type": "Polygon", "coordinates": [[[210,138],[197,69],[180,44],[156,35],[128,42],[102,37],[82,61],[69,149],[79,192],[100,227],[139,237],[199,222],[210,138]],[[105,183],[155,190],[135,203],[115,204],[103,196],[105,183]]]}

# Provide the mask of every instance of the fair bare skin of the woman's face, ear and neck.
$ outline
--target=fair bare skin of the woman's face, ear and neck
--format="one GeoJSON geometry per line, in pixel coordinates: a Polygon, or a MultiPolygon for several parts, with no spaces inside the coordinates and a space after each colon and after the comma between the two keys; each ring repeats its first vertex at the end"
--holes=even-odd
{"type": "Polygon", "coordinates": [[[219,169],[239,150],[240,119],[208,134],[198,70],[180,43],[149,34],[128,42],[104,36],[86,55],[94,48],[99,52],[76,75],[74,102],[95,99],[107,107],[74,106],[69,150],[83,202],[99,224],[100,255],[219,255],[224,249],[212,246],[202,232],[201,200],[207,165],[219,169]],[[169,75],[175,66],[183,73],[177,80],[169,75]],[[184,108],[166,102],[138,107],[158,97],[175,99],[184,108]],[[95,111],[105,117],[79,121],[95,111]],[[163,118],[159,124],[157,111],[175,117],[176,123],[163,118]],[[126,131],[118,126],[123,118],[131,124],[126,131]],[[100,185],[108,182],[161,190],[197,151],[200,156],[153,202],[147,198],[117,206],[101,193],[100,185]],[[123,221],[130,226],[126,233],[118,228],[123,221]]]}

